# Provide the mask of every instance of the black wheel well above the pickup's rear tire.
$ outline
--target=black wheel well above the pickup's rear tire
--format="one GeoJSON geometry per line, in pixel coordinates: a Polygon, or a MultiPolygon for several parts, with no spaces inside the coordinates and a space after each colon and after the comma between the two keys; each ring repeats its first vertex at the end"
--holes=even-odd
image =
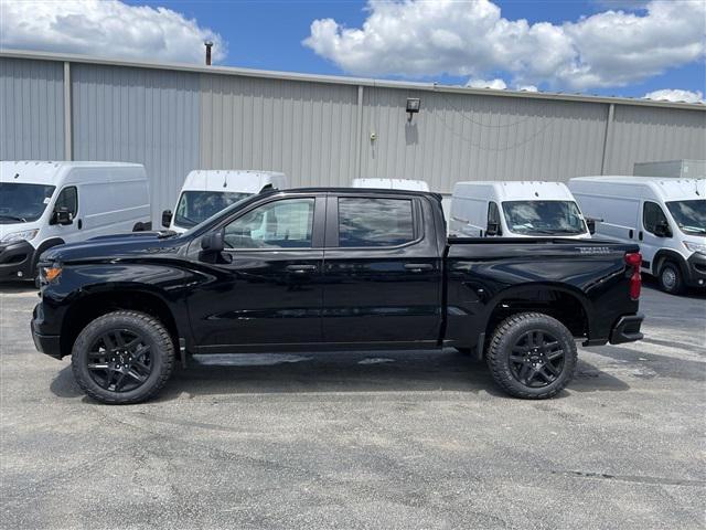
{"type": "Polygon", "coordinates": [[[485,326],[485,340],[505,318],[517,312],[543,312],[568,328],[574,337],[588,337],[588,315],[580,300],[568,293],[556,289],[524,290],[501,299],[490,315],[485,326]]]}

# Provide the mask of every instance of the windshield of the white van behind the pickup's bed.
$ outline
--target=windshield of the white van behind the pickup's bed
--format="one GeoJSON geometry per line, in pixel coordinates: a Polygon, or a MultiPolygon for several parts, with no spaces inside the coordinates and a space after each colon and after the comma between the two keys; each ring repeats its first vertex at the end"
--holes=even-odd
{"type": "Polygon", "coordinates": [[[516,234],[584,234],[586,225],[574,201],[503,202],[505,222],[516,234]]]}

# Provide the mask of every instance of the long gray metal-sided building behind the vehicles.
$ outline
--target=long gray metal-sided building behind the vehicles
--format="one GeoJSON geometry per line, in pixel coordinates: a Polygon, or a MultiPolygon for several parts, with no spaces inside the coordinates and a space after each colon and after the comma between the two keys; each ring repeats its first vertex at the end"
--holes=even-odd
{"type": "Polygon", "coordinates": [[[567,180],[706,159],[706,106],[0,52],[0,159],[141,162],[154,221],[192,169],[567,180]],[[408,120],[406,100],[421,99],[408,120]]]}

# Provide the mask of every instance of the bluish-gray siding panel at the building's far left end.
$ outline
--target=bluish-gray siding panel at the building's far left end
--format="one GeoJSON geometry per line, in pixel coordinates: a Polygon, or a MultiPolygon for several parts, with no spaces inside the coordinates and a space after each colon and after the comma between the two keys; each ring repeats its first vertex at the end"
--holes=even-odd
{"type": "Polygon", "coordinates": [[[64,159],[64,63],[0,59],[0,160],[64,159]]]}

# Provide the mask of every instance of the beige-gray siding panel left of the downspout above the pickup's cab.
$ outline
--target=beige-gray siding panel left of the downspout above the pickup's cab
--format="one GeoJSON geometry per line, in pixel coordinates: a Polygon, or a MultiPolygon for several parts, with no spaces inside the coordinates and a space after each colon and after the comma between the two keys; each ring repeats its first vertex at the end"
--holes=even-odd
{"type": "Polygon", "coordinates": [[[291,187],[353,178],[357,88],[202,74],[203,169],[284,171],[291,187]]]}

